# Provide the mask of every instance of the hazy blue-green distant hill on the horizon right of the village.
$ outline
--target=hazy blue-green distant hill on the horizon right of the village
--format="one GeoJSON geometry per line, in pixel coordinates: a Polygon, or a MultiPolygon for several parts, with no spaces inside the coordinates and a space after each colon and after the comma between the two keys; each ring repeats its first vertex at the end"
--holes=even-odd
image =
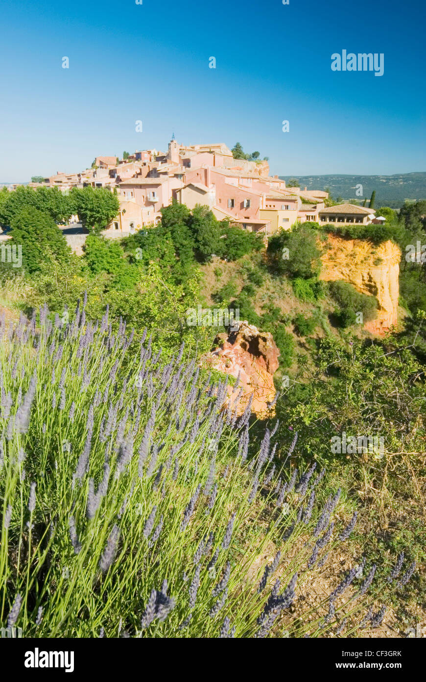
{"type": "MultiPolygon", "coordinates": [[[[333,199],[341,196],[347,201],[363,203],[376,190],[375,206],[401,207],[405,201],[426,199],[426,173],[400,175],[280,175],[283,180],[297,179],[301,188],[324,190],[330,188],[333,199]],[[363,186],[363,196],[355,194],[355,186],[363,186]]],[[[368,205],[368,204],[367,204],[368,205]]]]}

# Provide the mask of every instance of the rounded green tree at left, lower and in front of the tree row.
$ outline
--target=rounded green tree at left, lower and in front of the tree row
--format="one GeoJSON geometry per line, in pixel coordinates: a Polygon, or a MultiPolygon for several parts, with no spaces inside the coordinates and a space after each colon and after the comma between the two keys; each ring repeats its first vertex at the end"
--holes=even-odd
{"type": "Polygon", "coordinates": [[[32,206],[21,209],[10,224],[12,244],[22,248],[22,265],[29,273],[41,267],[48,254],[65,265],[71,250],[50,216],[32,206]]]}

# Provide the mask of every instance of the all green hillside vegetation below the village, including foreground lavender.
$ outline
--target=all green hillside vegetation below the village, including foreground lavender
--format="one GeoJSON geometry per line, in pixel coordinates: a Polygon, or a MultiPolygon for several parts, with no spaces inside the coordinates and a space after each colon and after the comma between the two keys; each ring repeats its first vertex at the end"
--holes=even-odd
{"type": "Polygon", "coordinates": [[[208,207],[174,204],[118,243],[99,233],[111,207],[91,194],[97,227],[76,256],[57,194],[1,201],[22,246],[22,267],[0,269],[12,325],[22,312],[1,327],[1,624],[263,637],[420,622],[426,284],[404,256],[425,242],[423,203],[363,231],[372,250],[391,238],[403,254],[399,327],[376,338],[356,316],[374,316],[374,297],[319,278],[317,224],[265,250],[208,207]],[[272,332],[266,421],[220,411],[226,377],[198,365],[224,329],[189,325],[198,305],[272,332]],[[343,434],[382,447],[333,451],[343,434]],[[314,576],[325,596],[305,603],[314,576]]]}

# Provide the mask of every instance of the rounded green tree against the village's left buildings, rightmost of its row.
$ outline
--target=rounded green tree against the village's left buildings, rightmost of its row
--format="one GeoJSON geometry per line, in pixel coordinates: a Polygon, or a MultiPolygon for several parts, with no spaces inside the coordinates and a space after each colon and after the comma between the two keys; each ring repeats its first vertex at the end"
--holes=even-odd
{"type": "Polygon", "coordinates": [[[78,214],[82,226],[95,233],[100,233],[110,224],[120,209],[116,194],[107,188],[74,187],[69,192],[73,213],[78,214]]]}

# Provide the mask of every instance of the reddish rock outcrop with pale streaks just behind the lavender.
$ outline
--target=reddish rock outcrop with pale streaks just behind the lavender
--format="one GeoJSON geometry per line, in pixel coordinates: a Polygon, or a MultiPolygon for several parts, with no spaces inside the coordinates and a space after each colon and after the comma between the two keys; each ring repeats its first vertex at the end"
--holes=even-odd
{"type": "Polygon", "coordinates": [[[267,406],[275,397],[273,374],[278,368],[278,350],[272,334],[263,333],[247,321],[240,322],[238,331],[220,333],[213,342],[212,351],[203,355],[203,364],[218,372],[237,378],[240,385],[228,389],[225,405],[235,404],[240,389],[242,394],[237,404],[237,414],[241,415],[252,396],[251,410],[258,417],[270,414],[267,406]]]}

